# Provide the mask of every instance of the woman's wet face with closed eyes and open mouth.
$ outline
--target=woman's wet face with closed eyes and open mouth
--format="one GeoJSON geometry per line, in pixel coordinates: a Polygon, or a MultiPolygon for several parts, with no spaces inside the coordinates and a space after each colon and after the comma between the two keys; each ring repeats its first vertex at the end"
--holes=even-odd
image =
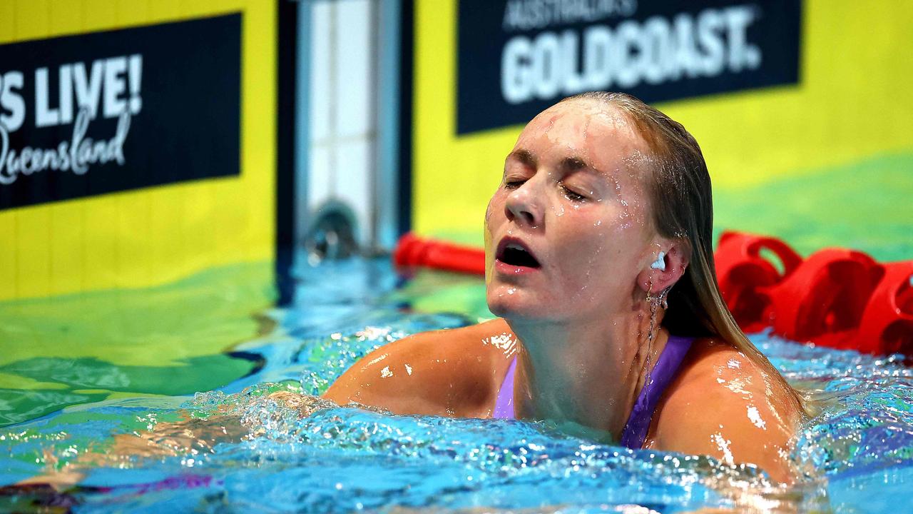
{"type": "Polygon", "coordinates": [[[612,106],[562,102],[519,135],[486,212],[491,312],[585,320],[630,303],[656,259],[649,151],[612,106]]]}

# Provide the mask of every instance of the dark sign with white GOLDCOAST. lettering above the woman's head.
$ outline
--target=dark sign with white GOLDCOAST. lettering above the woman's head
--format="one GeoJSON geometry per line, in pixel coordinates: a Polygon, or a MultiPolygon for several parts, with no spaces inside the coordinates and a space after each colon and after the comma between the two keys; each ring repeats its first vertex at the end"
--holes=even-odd
{"type": "Polygon", "coordinates": [[[799,80],[801,0],[459,0],[456,132],[561,98],[645,102],[799,80]]]}

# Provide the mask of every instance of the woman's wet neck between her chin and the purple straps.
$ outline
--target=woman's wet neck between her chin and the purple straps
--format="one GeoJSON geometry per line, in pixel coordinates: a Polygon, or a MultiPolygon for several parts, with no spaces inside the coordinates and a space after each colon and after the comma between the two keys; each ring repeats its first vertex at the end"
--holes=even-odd
{"type": "Polygon", "coordinates": [[[649,340],[645,302],[596,320],[508,323],[522,342],[514,382],[518,417],[579,423],[617,440],[647,366],[666,346],[659,319],[649,340]]]}

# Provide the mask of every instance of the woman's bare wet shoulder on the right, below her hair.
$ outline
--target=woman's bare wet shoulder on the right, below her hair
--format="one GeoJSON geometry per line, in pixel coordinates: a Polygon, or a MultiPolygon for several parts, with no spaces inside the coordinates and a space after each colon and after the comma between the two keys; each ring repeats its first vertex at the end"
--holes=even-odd
{"type": "Polygon", "coordinates": [[[780,373],[727,343],[699,339],[656,409],[649,445],[760,466],[789,480],[802,408],[780,373]]]}

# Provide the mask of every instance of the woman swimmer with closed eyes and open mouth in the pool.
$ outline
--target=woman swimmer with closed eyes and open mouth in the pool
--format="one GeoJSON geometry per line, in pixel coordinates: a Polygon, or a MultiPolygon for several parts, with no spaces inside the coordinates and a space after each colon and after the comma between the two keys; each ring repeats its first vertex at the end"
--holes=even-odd
{"type": "Polygon", "coordinates": [[[803,404],[719,296],[712,217],[707,165],[681,124],[625,94],[565,99],[523,129],[488,204],[500,317],[379,348],[325,397],[577,423],[790,481],[803,404]]]}

